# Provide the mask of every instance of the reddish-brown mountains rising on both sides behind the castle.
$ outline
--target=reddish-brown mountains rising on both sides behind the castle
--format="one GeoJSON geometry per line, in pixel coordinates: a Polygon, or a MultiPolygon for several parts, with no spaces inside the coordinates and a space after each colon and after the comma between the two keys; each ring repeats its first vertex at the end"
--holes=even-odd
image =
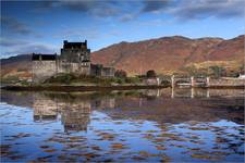
{"type": "MultiPolygon", "coordinates": [[[[120,42],[91,53],[93,63],[114,66],[128,74],[148,70],[168,74],[186,67],[224,65],[233,71],[244,65],[244,35],[233,39],[182,36],[162,37],[137,42],[120,42]]],[[[30,55],[1,60],[1,77],[32,75],[30,55]]]]}

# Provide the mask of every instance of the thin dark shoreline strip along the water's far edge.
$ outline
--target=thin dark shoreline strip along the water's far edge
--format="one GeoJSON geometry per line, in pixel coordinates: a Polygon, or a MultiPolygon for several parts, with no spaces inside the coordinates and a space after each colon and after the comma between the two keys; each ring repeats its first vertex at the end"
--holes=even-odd
{"type": "MultiPolygon", "coordinates": [[[[162,89],[170,86],[3,86],[1,89],[11,91],[107,91],[107,90],[132,90],[132,89],[162,89]]],[[[171,88],[171,87],[170,87],[171,88]]],[[[189,89],[185,87],[177,89],[189,89]]],[[[244,89],[245,86],[209,86],[193,87],[198,89],[244,89]]]]}

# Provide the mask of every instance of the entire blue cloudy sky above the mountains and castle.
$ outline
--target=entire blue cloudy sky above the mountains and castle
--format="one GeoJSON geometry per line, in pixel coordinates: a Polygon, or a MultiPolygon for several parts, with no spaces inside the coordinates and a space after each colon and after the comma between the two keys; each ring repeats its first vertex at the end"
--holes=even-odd
{"type": "Polygon", "coordinates": [[[91,51],[181,35],[231,39],[245,32],[245,0],[1,0],[0,58],[60,53],[63,40],[91,51]]]}

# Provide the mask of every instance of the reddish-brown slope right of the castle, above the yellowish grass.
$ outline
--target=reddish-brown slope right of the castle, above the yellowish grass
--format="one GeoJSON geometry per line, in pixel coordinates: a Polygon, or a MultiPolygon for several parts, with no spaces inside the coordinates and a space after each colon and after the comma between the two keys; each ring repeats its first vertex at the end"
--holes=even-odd
{"type": "Polygon", "coordinates": [[[131,74],[156,70],[177,71],[191,63],[244,60],[244,36],[189,39],[182,36],[162,37],[138,42],[120,42],[91,54],[94,63],[125,70],[131,74]]]}

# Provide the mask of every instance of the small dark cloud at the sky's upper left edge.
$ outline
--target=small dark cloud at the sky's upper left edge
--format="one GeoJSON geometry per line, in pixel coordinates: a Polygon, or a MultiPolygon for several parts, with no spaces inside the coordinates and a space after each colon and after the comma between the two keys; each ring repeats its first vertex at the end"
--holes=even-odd
{"type": "Polygon", "coordinates": [[[1,16],[1,27],[2,29],[10,30],[14,34],[28,35],[33,33],[33,30],[29,29],[26,24],[17,21],[16,18],[8,16],[1,16]]]}

